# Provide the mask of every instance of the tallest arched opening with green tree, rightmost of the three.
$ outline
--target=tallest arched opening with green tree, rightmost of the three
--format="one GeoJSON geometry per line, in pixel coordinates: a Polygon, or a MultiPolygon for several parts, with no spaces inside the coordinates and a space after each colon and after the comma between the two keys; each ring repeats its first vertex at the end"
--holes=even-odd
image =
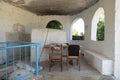
{"type": "Polygon", "coordinates": [[[103,8],[97,9],[92,20],[91,40],[103,41],[105,27],[105,12],[103,8]]]}

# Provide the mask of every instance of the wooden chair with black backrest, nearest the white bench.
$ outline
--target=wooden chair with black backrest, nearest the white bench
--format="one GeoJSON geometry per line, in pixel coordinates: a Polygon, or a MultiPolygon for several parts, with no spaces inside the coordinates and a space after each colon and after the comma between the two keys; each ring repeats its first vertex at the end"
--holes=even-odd
{"type": "Polygon", "coordinates": [[[69,67],[70,60],[77,60],[78,69],[80,70],[80,46],[70,44],[67,49],[67,70],[69,67]]]}

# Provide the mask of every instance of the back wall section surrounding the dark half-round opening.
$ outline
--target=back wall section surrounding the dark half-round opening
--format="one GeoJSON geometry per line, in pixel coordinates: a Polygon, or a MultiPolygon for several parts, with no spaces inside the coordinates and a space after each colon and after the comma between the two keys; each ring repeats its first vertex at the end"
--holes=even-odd
{"type": "MultiPolygon", "coordinates": [[[[47,24],[52,21],[57,20],[63,25],[63,31],[66,32],[67,42],[69,41],[70,34],[69,28],[71,26],[71,16],[57,16],[57,15],[48,15],[48,16],[38,16],[38,27],[46,28],[47,24]]],[[[60,35],[61,36],[61,35],[60,35]]]]}

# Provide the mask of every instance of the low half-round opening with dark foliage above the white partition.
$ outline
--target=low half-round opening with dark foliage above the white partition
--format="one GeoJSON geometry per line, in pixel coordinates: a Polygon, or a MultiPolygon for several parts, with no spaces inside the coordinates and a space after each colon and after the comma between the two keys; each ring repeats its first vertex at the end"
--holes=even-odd
{"type": "Polygon", "coordinates": [[[57,21],[57,20],[52,20],[52,21],[50,21],[48,24],[47,24],[47,26],[46,26],[46,28],[51,28],[51,29],[63,29],[63,26],[62,26],[62,24],[59,22],[59,21],[57,21]]]}

